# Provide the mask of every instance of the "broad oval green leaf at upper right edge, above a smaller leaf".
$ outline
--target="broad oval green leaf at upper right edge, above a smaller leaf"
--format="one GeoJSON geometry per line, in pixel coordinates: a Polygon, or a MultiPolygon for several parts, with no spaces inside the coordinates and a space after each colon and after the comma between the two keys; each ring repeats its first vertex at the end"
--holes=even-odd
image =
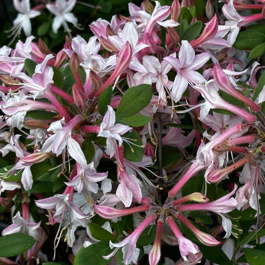
{"type": "Polygon", "coordinates": [[[258,31],[248,29],[239,32],[233,46],[238,50],[250,50],[264,42],[264,35],[258,31]]]}

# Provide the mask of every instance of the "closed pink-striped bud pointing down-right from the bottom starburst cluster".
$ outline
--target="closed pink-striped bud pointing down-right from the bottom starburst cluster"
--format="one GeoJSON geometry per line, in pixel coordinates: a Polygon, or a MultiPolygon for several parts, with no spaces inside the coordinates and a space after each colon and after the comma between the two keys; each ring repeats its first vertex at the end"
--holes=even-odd
{"type": "Polygon", "coordinates": [[[180,219],[181,222],[183,224],[185,224],[192,233],[194,233],[194,235],[201,241],[201,243],[203,243],[206,246],[216,246],[219,245],[220,242],[217,241],[214,237],[212,237],[209,234],[206,234],[202,231],[200,231],[198,228],[196,228],[193,224],[191,224],[191,222],[186,219],[186,217],[184,217],[181,213],[178,213],[176,215],[177,219],[180,219]]]}

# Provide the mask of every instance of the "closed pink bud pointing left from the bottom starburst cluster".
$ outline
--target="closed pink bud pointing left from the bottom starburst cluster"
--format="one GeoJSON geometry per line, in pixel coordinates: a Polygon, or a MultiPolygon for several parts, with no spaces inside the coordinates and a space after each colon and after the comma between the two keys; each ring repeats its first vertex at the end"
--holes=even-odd
{"type": "Polygon", "coordinates": [[[128,208],[125,210],[120,210],[120,209],[116,209],[116,208],[105,206],[105,205],[97,205],[97,204],[94,205],[94,211],[99,216],[105,219],[121,217],[127,214],[134,214],[134,213],[139,213],[139,212],[144,212],[144,211],[149,211],[149,210],[150,210],[150,205],[140,205],[140,206],[128,208]]]}

